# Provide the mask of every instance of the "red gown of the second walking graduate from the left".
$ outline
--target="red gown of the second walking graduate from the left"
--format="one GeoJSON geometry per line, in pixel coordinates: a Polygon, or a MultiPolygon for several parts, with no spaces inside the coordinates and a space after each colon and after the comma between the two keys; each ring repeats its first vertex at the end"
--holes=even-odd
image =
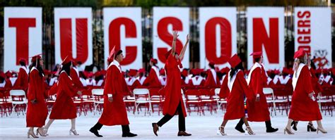
{"type": "Polygon", "coordinates": [[[77,108],[72,99],[77,94],[77,89],[74,87],[69,75],[65,71],[59,75],[57,98],[52,107],[50,119],[64,120],[74,119],[77,117],[77,108]]]}

